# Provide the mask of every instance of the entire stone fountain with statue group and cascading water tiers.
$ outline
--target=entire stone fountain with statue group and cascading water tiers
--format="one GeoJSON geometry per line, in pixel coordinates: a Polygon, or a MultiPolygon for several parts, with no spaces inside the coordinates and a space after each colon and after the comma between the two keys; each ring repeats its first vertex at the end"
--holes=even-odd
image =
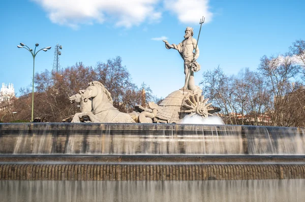
{"type": "MultiPolygon", "coordinates": [[[[186,34],[190,31],[188,27],[186,34]]],[[[184,41],[165,43],[181,53],[184,41]]],[[[108,90],[94,81],[70,97],[81,105],[74,123],[0,123],[0,198],[303,199],[304,128],[179,124],[185,117],[206,118],[219,111],[193,85],[192,71],[200,65],[192,61],[189,66],[184,54],[185,86],[159,106],[149,103],[148,108],[137,106],[132,114],[120,113],[112,106],[108,90]]],[[[195,56],[194,60],[199,54],[195,56]]]]}

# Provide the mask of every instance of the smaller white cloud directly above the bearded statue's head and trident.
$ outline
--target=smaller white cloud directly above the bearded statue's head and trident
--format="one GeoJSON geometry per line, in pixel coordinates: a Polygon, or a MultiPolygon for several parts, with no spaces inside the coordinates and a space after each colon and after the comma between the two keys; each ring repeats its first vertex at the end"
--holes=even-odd
{"type": "Polygon", "coordinates": [[[212,20],[208,3],[209,0],[164,0],[164,7],[177,15],[180,22],[197,24],[202,16],[205,23],[212,20]]]}

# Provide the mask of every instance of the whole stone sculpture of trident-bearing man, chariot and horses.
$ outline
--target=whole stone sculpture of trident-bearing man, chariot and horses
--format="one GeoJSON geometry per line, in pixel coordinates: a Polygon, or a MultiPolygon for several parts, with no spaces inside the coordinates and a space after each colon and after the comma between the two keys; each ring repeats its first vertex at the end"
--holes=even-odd
{"type": "MultiPolygon", "coordinates": [[[[202,119],[213,116],[221,109],[207,103],[208,99],[202,95],[199,86],[195,86],[194,72],[200,70],[196,61],[199,57],[198,40],[204,17],[200,20],[198,39],[194,39],[193,28],[187,27],[185,40],[178,45],[170,45],[167,41],[167,49],[176,49],[184,59],[184,71],[186,75],[185,85],[179,90],[170,93],[157,105],[153,102],[145,104],[145,94],[142,91],[144,107],[137,105],[132,113],[122,113],[113,107],[110,92],[98,81],[88,83],[85,90],[69,97],[71,103],[80,103],[80,113],[73,116],[71,122],[98,122],[98,123],[180,123],[184,117],[199,116],[202,119]],[[194,52],[195,50],[195,52],[194,52]],[[144,98],[143,98],[144,97],[144,98]],[[87,120],[84,120],[84,117],[87,120]],[[89,118],[89,120],[88,120],[89,118]]],[[[63,121],[69,121],[70,117],[63,121]]]]}

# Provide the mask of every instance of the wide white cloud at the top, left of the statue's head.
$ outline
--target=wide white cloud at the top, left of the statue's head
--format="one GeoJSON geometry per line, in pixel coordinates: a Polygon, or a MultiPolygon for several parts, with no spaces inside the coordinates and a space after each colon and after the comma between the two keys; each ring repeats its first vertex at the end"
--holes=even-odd
{"type": "Polygon", "coordinates": [[[78,28],[79,24],[114,21],[131,27],[161,18],[155,7],[160,0],[32,0],[41,5],[56,24],[78,28]]]}

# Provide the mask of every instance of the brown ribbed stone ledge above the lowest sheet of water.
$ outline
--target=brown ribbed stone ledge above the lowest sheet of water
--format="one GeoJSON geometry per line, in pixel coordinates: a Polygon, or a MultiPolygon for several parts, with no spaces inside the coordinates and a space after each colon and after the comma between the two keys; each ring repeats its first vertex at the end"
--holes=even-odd
{"type": "Polygon", "coordinates": [[[305,179],[305,164],[1,164],[0,180],[305,179]]]}

